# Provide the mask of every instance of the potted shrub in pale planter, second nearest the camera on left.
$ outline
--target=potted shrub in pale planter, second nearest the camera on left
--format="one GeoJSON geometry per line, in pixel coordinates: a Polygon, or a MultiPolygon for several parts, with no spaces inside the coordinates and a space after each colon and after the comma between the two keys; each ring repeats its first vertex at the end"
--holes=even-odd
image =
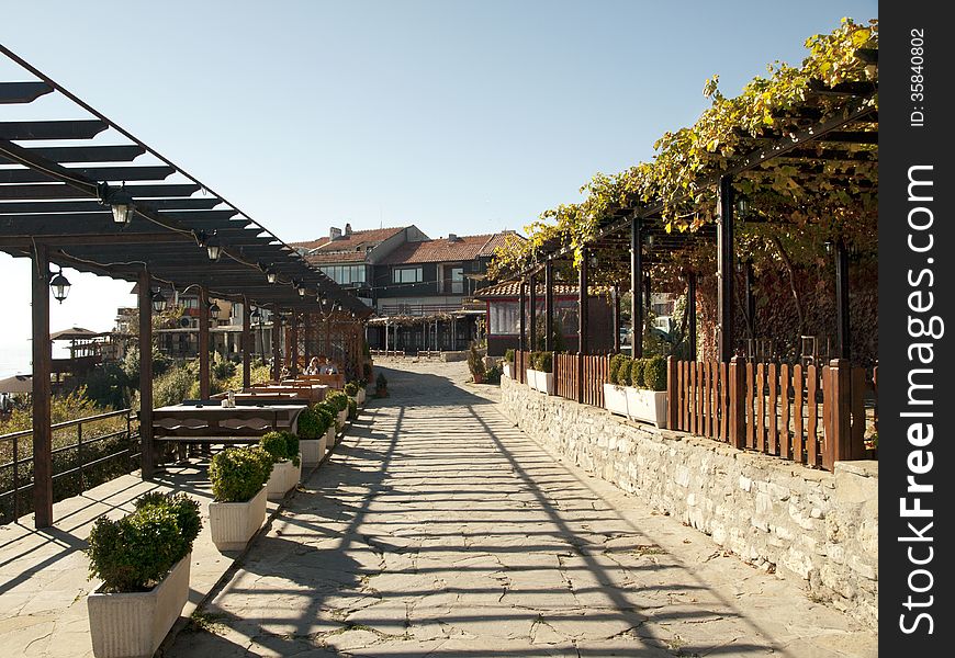
{"type": "Polygon", "coordinates": [[[272,457],[258,445],[228,447],[212,457],[209,526],[216,548],[241,551],[262,526],[271,472],[272,457]]]}

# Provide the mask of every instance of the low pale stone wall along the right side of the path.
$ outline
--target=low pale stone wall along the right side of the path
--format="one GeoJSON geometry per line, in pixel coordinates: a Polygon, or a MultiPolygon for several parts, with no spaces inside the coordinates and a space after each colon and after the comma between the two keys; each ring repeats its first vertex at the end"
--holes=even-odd
{"type": "Polygon", "coordinates": [[[506,377],[504,412],[536,441],[809,597],[878,621],[878,463],[834,473],[626,421],[506,377]]]}

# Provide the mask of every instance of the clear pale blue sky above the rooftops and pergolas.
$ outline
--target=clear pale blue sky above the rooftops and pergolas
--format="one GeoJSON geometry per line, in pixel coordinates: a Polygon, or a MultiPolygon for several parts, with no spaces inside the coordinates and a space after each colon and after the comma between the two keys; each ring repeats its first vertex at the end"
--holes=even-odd
{"type": "MultiPolygon", "coordinates": [[[[875,0],[44,1],[4,3],[0,41],[295,241],[346,222],[519,230],[649,159],[705,109],[706,78],[735,94],[798,64],[807,36],[876,15],[875,0]]],[[[128,284],[67,275],[54,330],[110,329],[133,303],[128,284]]],[[[2,376],[29,370],[26,262],[0,254],[0,281],[2,376]]]]}

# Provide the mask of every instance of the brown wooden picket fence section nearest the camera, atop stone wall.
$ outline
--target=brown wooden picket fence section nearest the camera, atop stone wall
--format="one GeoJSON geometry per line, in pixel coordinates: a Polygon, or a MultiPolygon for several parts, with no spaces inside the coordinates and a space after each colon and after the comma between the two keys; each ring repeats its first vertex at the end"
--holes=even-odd
{"type": "Polygon", "coordinates": [[[866,423],[877,423],[878,367],[833,360],[829,365],[729,364],[671,359],[670,427],[739,449],[832,469],[843,460],[872,456],[866,423]]]}

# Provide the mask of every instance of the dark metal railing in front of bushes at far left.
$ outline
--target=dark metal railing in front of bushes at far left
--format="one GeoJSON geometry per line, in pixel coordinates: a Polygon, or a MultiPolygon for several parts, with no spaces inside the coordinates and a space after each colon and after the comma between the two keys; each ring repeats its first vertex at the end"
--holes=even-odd
{"type": "MultiPolygon", "coordinates": [[[[139,467],[138,421],[131,409],[58,422],[50,431],[54,501],[139,467]]],[[[0,435],[0,523],[33,511],[32,500],[24,499],[33,489],[33,445],[24,441],[32,436],[32,429],[0,435]]]]}

